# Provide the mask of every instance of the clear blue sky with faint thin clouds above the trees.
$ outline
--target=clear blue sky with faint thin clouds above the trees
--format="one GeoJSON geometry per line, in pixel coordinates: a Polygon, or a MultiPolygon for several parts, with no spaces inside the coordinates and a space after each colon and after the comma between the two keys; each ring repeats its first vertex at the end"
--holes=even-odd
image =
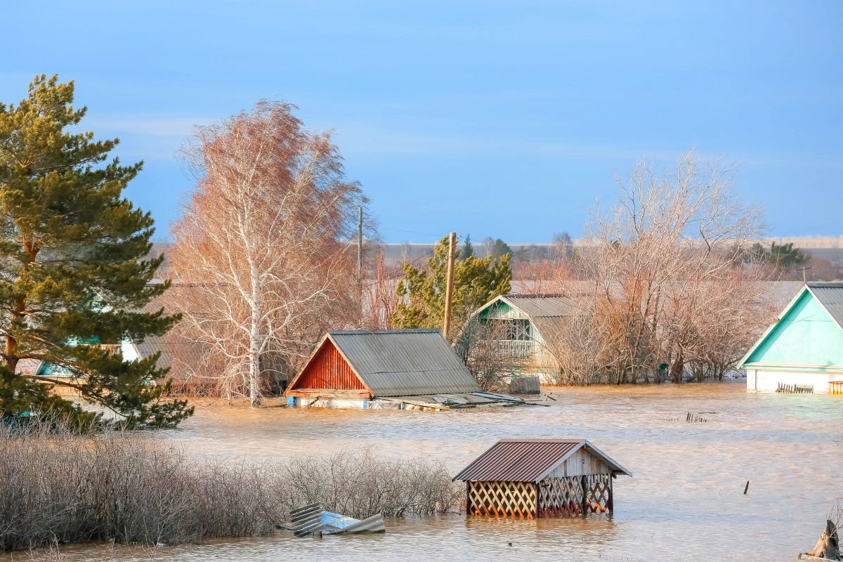
{"type": "Polygon", "coordinates": [[[173,153],[191,127],[261,98],[335,130],[389,242],[577,237],[616,170],[690,147],[739,164],[738,190],[771,233],[843,233],[838,1],[147,0],[3,14],[0,100],[17,103],[36,73],[75,79],[85,128],[145,161],[127,196],[161,237],[190,187],[173,153]]]}

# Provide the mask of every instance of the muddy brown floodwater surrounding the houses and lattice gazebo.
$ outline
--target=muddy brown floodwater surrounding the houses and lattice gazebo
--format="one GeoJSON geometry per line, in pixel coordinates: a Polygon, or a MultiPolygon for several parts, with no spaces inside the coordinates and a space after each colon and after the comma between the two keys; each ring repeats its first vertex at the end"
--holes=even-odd
{"type": "MultiPolygon", "coordinates": [[[[793,560],[843,496],[839,396],[747,393],[744,383],[545,390],[556,399],[548,407],[449,412],[197,403],[168,433],[191,452],[233,459],[374,447],[443,460],[453,474],[502,437],[585,437],[633,475],[615,480],[614,516],[406,517],[383,535],[216,540],[157,549],[155,559],[793,560]],[[707,421],[689,423],[689,412],[707,421]]],[[[102,546],[66,553],[106,557],[102,546]]]]}

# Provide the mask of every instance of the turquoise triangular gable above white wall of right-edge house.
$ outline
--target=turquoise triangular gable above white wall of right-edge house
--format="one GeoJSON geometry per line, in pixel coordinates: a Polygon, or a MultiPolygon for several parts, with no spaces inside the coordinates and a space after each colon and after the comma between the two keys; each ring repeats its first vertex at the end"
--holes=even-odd
{"type": "Polygon", "coordinates": [[[738,368],[843,366],[843,283],[809,283],[766,329],[738,368]]]}

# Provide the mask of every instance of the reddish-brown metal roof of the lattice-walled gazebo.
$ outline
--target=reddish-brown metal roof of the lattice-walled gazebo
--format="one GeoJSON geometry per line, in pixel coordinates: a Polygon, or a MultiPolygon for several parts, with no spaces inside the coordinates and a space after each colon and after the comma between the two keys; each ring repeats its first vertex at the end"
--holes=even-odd
{"type": "Polygon", "coordinates": [[[539,482],[582,448],[602,460],[612,474],[632,475],[586,439],[502,439],[463,468],[454,480],[539,482]]]}

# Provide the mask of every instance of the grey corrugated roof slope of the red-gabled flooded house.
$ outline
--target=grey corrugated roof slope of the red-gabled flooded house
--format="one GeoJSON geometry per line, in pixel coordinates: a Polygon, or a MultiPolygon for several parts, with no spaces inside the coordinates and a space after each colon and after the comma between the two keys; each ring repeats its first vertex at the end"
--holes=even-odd
{"type": "Polygon", "coordinates": [[[438,329],[330,332],[374,396],[479,392],[438,329]]]}

